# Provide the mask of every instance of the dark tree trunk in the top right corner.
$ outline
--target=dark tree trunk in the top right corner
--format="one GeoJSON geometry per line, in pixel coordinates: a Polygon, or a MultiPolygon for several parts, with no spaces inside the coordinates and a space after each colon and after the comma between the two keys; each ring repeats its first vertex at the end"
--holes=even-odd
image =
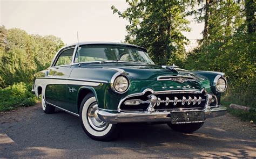
{"type": "Polygon", "coordinates": [[[248,34],[252,34],[255,32],[255,4],[253,1],[254,0],[245,0],[245,12],[248,34]]]}

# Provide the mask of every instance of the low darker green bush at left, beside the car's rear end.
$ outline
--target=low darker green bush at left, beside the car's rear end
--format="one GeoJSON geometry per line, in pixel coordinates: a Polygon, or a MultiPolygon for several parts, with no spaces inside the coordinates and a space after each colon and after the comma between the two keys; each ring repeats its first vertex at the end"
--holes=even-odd
{"type": "Polygon", "coordinates": [[[0,111],[8,111],[18,106],[35,105],[37,98],[31,92],[32,84],[15,83],[0,89],[0,111]]]}

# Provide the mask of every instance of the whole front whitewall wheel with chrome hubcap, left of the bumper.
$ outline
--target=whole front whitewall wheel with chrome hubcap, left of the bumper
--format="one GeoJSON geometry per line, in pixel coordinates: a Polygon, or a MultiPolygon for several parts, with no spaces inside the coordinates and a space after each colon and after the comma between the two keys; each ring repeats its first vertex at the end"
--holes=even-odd
{"type": "Polygon", "coordinates": [[[80,105],[80,123],[84,132],[93,140],[110,141],[117,137],[116,124],[108,124],[98,117],[98,103],[93,93],[86,95],[80,105]]]}

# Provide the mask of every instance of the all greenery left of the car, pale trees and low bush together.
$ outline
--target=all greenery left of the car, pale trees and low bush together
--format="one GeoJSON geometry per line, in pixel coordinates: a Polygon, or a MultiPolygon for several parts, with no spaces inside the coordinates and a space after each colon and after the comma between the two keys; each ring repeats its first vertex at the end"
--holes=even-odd
{"type": "Polygon", "coordinates": [[[31,92],[33,75],[49,67],[63,45],[53,35],[29,35],[18,28],[0,26],[0,111],[37,102],[31,92]]]}

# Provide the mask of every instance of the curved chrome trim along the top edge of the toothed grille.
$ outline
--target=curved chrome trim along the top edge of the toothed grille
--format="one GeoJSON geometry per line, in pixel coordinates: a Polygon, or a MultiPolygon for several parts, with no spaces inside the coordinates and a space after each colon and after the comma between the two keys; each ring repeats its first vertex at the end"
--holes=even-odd
{"type": "Polygon", "coordinates": [[[205,89],[199,91],[199,90],[166,90],[166,91],[154,91],[152,89],[145,89],[143,92],[140,93],[134,93],[132,95],[128,95],[126,97],[124,97],[123,99],[120,100],[118,107],[117,107],[117,111],[118,112],[122,112],[122,110],[120,109],[121,104],[124,102],[125,99],[130,98],[130,97],[136,97],[136,96],[143,96],[146,92],[151,92],[152,95],[158,95],[158,94],[172,94],[172,93],[203,93],[205,91],[205,89]]]}

